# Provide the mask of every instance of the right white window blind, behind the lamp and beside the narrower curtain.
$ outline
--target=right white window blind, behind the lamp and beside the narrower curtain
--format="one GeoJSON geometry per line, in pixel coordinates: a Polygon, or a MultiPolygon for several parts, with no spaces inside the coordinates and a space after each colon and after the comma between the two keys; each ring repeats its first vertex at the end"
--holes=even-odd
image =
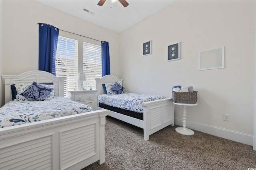
{"type": "Polygon", "coordinates": [[[90,86],[96,89],[95,78],[102,77],[101,46],[83,43],[83,70],[86,75],[84,84],[88,90],[90,86]]]}

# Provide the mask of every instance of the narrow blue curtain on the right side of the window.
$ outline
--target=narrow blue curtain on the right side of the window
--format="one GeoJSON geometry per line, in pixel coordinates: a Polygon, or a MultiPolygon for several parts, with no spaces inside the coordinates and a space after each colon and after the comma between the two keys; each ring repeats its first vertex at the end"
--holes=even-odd
{"type": "Polygon", "coordinates": [[[101,41],[101,62],[102,62],[102,77],[110,74],[109,48],[108,42],[101,41]]]}

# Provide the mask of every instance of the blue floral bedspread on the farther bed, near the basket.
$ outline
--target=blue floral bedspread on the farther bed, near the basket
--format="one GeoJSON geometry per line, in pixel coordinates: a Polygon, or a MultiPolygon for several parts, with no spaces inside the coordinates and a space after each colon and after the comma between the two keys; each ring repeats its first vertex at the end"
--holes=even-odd
{"type": "Polygon", "coordinates": [[[118,107],[120,109],[143,113],[143,102],[150,102],[165,98],[166,97],[164,96],[158,95],[124,92],[122,94],[101,94],[98,96],[98,102],[108,106],[118,107]]]}

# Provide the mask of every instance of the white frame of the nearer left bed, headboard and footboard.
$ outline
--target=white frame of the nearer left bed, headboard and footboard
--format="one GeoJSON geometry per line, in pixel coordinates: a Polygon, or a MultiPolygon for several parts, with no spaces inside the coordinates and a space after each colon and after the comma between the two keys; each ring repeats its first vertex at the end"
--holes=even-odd
{"type": "MultiPolygon", "coordinates": [[[[44,71],[18,76],[2,75],[5,102],[10,85],[50,83],[55,95],[64,96],[64,78],[44,71]]],[[[105,162],[105,123],[108,110],[97,110],[23,125],[0,128],[0,169],[80,170],[105,162]]]]}

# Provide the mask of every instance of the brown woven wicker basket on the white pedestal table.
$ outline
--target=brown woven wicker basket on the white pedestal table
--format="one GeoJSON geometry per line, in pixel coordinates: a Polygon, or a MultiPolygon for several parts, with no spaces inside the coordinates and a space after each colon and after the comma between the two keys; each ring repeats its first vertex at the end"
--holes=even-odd
{"type": "Polygon", "coordinates": [[[194,92],[174,92],[174,91],[172,91],[172,100],[174,103],[196,104],[197,91],[194,91],[194,92]]]}

